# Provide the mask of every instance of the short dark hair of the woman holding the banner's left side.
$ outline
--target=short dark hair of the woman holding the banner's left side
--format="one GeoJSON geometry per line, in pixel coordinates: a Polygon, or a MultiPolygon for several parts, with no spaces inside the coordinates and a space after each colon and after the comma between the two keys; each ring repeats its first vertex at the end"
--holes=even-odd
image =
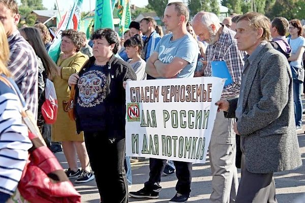
{"type": "Polygon", "coordinates": [[[119,42],[118,42],[117,35],[116,35],[115,31],[110,29],[110,28],[98,29],[90,37],[91,40],[102,39],[102,38],[105,38],[106,41],[110,45],[114,44],[114,48],[113,48],[112,52],[114,54],[116,54],[117,51],[118,51],[119,42]]]}

